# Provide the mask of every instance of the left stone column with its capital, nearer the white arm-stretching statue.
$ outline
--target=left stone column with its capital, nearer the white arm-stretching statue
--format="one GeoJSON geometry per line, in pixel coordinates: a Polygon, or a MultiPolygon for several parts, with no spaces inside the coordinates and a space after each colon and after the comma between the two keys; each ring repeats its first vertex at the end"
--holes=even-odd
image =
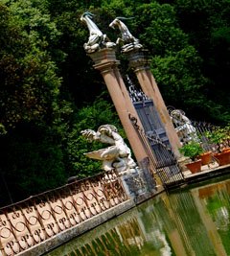
{"type": "Polygon", "coordinates": [[[138,119],[136,109],[131,103],[126,85],[119,72],[118,65],[120,61],[116,59],[114,49],[102,49],[95,53],[88,54],[88,56],[93,59],[95,63],[94,68],[99,70],[104,78],[137,162],[143,160],[148,154],[131,124],[129,114],[137,118],[140,127],[142,127],[142,125],[138,119]]]}

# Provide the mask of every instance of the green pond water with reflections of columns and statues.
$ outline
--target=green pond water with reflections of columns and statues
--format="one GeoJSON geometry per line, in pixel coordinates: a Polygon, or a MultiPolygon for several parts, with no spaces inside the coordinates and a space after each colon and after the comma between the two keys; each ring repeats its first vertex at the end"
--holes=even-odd
{"type": "Polygon", "coordinates": [[[46,255],[230,255],[230,175],[151,198],[46,255]]]}

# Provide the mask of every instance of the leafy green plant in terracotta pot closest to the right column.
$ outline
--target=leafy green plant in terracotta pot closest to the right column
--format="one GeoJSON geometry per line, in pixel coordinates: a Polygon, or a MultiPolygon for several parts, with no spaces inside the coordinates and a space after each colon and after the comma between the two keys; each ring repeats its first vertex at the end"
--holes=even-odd
{"type": "Polygon", "coordinates": [[[192,162],[186,164],[186,167],[192,174],[196,174],[201,171],[201,159],[198,159],[198,156],[203,152],[203,149],[198,142],[191,141],[182,146],[179,151],[183,153],[184,156],[191,158],[192,162]]]}

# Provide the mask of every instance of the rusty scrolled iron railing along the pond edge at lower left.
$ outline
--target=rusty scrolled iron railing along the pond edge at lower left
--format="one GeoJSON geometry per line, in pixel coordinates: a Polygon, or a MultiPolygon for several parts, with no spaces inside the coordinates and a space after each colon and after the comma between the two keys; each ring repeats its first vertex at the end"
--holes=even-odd
{"type": "Polygon", "coordinates": [[[16,255],[127,200],[114,171],[0,209],[0,254],[16,255]]]}

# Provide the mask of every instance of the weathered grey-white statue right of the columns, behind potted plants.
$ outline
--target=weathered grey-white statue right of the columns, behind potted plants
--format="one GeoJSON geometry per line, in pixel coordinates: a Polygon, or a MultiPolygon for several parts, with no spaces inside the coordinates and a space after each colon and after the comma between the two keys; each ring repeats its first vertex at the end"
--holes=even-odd
{"type": "Polygon", "coordinates": [[[192,140],[199,141],[196,128],[192,125],[192,122],[185,116],[182,110],[173,110],[171,112],[171,117],[181,143],[187,143],[192,140]]]}

